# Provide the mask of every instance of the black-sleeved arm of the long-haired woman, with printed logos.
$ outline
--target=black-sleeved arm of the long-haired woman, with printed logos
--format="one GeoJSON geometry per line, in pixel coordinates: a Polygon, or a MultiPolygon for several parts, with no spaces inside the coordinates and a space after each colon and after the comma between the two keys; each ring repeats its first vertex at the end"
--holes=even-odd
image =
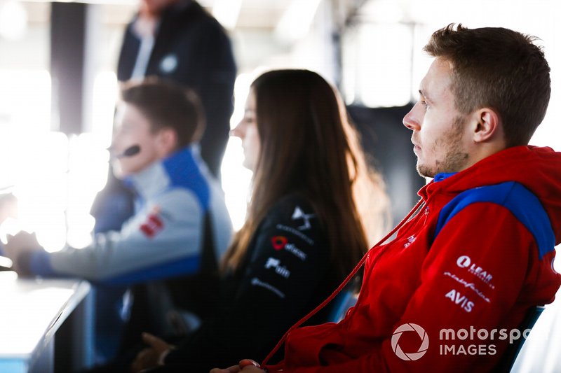
{"type": "Polygon", "coordinates": [[[254,235],[255,250],[231,302],[170,351],[166,366],[208,372],[241,356],[264,358],[290,325],[316,306],[309,300],[325,280],[329,251],[316,221],[299,230],[302,220],[291,218],[295,207],[269,213],[254,235]]]}

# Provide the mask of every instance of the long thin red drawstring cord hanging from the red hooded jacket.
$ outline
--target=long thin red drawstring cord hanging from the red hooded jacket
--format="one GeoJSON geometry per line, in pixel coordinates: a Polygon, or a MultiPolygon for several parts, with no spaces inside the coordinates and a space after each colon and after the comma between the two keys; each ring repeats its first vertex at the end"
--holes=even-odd
{"type": "MultiPolygon", "coordinates": [[[[407,223],[407,221],[409,221],[409,219],[414,215],[415,212],[417,212],[419,210],[419,207],[421,207],[421,204],[423,204],[423,200],[419,199],[419,202],[417,202],[417,204],[415,204],[415,206],[413,207],[413,209],[410,211],[410,213],[407,214],[407,216],[405,216],[405,218],[403,218],[403,220],[400,221],[400,223],[398,225],[396,225],[395,228],[393,228],[393,230],[391,230],[391,232],[389,232],[388,234],[386,234],[386,237],[384,237],[383,239],[381,239],[380,241],[378,241],[377,244],[375,244],[374,246],[372,246],[372,248],[370,248],[369,251],[367,251],[367,253],[365,253],[365,255],[363,256],[362,259],[360,259],[360,262],[358,262],[358,265],[356,265],[356,267],[354,267],[354,269],[351,271],[351,273],[349,274],[349,276],[346,276],[346,278],[344,279],[344,281],[337,287],[337,289],[334,290],[334,292],[327,297],[326,300],[324,300],[323,302],[320,303],[320,305],[318,307],[316,307],[315,309],[313,309],[309,314],[307,314],[306,316],[304,316],[303,318],[301,318],[297,323],[295,323],[294,325],[292,325],[290,327],[290,329],[285,332],[285,335],[283,335],[282,338],[280,338],[280,341],[278,341],[278,343],[276,344],[276,346],[271,350],[271,352],[269,352],[269,355],[266,356],[266,358],[264,358],[263,362],[261,363],[261,367],[264,367],[266,365],[266,363],[269,361],[269,359],[271,359],[273,357],[273,355],[276,353],[276,351],[278,351],[278,349],[280,349],[280,346],[283,345],[283,343],[285,342],[285,340],[288,338],[288,335],[290,335],[290,332],[292,332],[292,330],[295,330],[296,328],[298,328],[300,325],[302,325],[303,323],[305,323],[306,321],[309,320],[309,318],[311,318],[311,316],[315,315],[316,313],[318,313],[318,311],[320,311],[320,309],[323,309],[323,307],[325,307],[325,305],[327,305],[329,302],[331,302],[333,300],[334,297],[337,296],[337,294],[339,294],[341,292],[341,290],[343,290],[343,288],[346,286],[347,283],[349,283],[349,281],[351,281],[351,279],[353,278],[353,276],[356,274],[356,272],[358,272],[360,270],[361,267],[363,267],[366,259],[368,258],[368,254],[370,253],[370,251],[372,251],[373,248],[377,248],[378,246],[380,246],[381,244],[384,244],[384,242],[386,242],[387,239],[389,239],[391,236],[393,236],[394,233],[396,233],[400,227],[402,227],[405,223],[407,223]]],[[[374,260],[372,260],[372,262],[376,262],[377,259],[379,258],[379,256],[381,255],[381,251],[379,251],[376,255],[376,258],[374,258],[374,260]]]]}

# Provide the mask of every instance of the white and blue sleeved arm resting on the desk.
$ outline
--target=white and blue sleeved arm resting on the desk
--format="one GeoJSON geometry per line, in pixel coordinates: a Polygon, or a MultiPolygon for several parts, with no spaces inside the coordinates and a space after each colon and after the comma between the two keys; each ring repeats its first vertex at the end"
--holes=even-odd
{"type": "Polygon", "coordinates": [[[78,276],[119,284],[194,273],[200,265],[202,224],[196,198],[177,189],[133,216],[120,232],[97,234],[93,244],[83,249],[38,251],[22,258],[20,265],[43,276],[78,276]]]}

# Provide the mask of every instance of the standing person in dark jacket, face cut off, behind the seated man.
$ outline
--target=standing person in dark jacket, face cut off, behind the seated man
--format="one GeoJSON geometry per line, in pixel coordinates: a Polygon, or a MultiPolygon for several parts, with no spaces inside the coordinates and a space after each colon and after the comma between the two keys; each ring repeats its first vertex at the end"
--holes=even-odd
{"type": "Polygon", "coordinates": [[[194,0],[140,0],[119,53],[123,82],[161,76],[194,90],[206,117],[201,156],[219,177],[228,141],[236,63],[222,26],[194,0]]]}

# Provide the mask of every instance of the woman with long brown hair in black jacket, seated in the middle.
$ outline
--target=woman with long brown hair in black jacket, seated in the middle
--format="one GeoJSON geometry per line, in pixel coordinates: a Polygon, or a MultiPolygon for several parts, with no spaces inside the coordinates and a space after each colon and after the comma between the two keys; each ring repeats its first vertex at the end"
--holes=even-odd
{"type": "Polygon", "coordinates": [[[177,346],[144,335],[150,347],[138,354],[135,372],[157,365],[208,372],[240,355],[264,357],[342,281],[370,246],[368,233],[384,229],[379,178],[337,92],[317,73],[259,76],[232,134],[242,139],[252,191],[245,224],[222,261],[217,314],[177,346]]]}

